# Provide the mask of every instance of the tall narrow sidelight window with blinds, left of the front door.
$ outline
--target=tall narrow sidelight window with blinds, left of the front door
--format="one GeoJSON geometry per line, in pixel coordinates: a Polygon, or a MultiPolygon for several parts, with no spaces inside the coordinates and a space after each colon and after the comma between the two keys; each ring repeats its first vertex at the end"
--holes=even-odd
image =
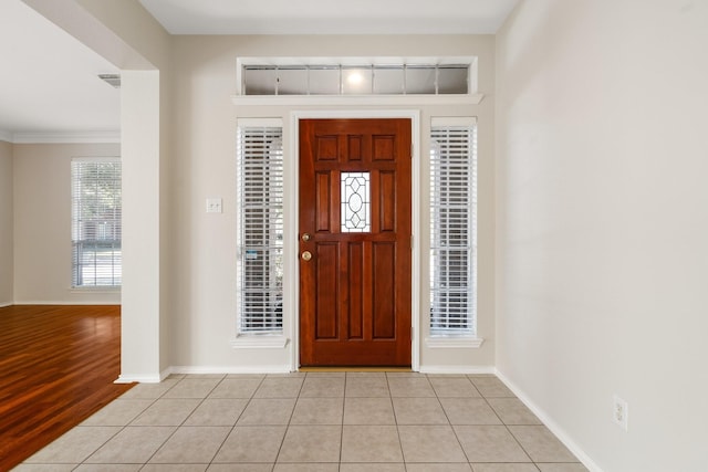
{"type": "Polygon", "coordinates": [[[238,129],[238,332],[283,328],[282,126],[238,129]]]}

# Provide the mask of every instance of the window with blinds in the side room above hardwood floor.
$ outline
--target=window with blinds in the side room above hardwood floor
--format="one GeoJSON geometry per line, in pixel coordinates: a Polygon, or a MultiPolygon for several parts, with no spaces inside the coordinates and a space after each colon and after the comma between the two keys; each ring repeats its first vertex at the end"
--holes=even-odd
{"type": "Polygon", "coordinates": [[[72,287],[121,286],[121,160],[72,159],[71,198],[72,287]]]}

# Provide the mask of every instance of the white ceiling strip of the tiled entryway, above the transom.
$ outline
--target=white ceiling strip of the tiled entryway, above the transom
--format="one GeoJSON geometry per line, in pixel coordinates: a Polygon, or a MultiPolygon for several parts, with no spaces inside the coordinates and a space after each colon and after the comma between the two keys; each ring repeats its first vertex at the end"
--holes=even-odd
{"type": "Polygon", "coordinates": [[[140,0],[171,34],[492,34],[518,0],[140,0]]]}

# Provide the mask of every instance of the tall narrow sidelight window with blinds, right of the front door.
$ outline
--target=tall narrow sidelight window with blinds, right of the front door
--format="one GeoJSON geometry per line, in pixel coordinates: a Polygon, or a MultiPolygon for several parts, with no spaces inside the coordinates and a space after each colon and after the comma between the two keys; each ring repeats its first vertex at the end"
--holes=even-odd
{"type": "Polygon", "coordinates": [[[476,318],[477,127],[440,118],[430,133],[430,334],[475,336],[476,318]]]}

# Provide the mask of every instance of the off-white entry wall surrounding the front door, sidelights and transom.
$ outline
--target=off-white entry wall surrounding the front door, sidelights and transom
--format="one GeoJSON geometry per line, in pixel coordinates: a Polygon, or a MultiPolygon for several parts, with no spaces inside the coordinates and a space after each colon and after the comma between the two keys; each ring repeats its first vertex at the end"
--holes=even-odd
{"type": "MultiPolygon", "coordinates": [[[[313,107],[235,106],[230,96],[237,90],[237,57],[478,55],[480,92],[488,94],[480,105],[418,109],[424,134],[434,114],[479,116],[480,220],[483,221],[479,235],[479,332],[486,342],[479,349],[421,346],[421,366],[490,369],[494,363],[493,36],[176,36],[174,44],[173,365],[186,370],[262,370],[289,368],[292,363],[292,344],[280,350],[233,349],[230,345],[236,335],[237,316],[236,119],[281,117],[285,124],[283,140],[289,146],[291,112],[313,107]],[[222,214],[205,212],[207,197],[223,198],[222,214]]],[[[423,143],[425,146],[427,140],[423,143]]],[[[421,160],[417,162],[421,167],[427,162],[425,154],[421,153],[421,160]]],[[[294,153],[288,149],[285,155],[294,158],[294,153]]],[[[421,175],[425,181],[427,170],[421,175]]],[[[427,183],[425,186],[420,193],[427,201],[427,183]]],[[[424,210],[424,220],[426,216],[424,210]]],[[[426,240],[427,234],[416,239],[421,245],[426,240]]],[[[427,260],[425,264],[427,266],[427,260]]],[[[426,273],[421,280],[428,280],[426,273]]],[[[426,287],[425,283],[423,286],[426,287]]],[[[425,301],[426,291],[419,296],[425,301]]],[[[287,324],[294,323],[292,308],[285,307],[285,318],[287,324]]]]}

